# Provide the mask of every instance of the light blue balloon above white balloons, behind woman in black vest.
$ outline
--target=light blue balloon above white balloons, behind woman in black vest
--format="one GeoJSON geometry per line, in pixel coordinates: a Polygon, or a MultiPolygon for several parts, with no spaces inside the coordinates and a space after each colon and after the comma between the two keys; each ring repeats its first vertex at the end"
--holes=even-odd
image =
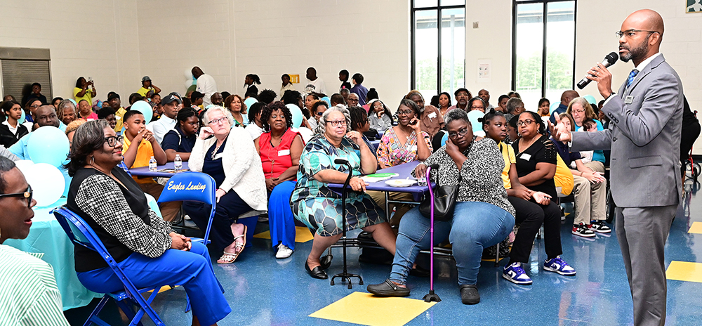
{"type": "Polygon", "coordinates": [[[32,162],[60,167],[66,162],[69,151],[68,137],[55,126],[43,126],[30,133],[27,153],[32,162]]]}

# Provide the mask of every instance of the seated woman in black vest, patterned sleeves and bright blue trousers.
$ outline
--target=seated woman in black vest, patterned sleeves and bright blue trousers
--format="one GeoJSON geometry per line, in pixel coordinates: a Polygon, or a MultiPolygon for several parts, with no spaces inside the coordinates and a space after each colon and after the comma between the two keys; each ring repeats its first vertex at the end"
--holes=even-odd
{"type": "MultiPolygon", "coordinates": [[[[67,207],[93,229],[138,288],[183,285],[192,305],[192,325],[213,325],[232,310],[220,291],[207,247],[171,229],[149,207],[144,192],[123,169],[121,136],[105,120],[75,132],[68,174],[67,207]]],[[[78,279],[93,292],[124,289],[97,252],[76,246],[78,279]]]]}

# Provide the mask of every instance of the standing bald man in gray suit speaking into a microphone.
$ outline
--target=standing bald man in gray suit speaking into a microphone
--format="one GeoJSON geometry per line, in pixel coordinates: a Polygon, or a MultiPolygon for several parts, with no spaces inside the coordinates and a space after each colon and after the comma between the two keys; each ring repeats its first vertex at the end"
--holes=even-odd
{"type": "Polygon", "coordinates": [[[571,133],[562,124],[556,138],[571,141],[571,150],[611,147],[611,194],[616,208],[616,235],[634,301],[634,325],[665,324],[665,260],[668,238],[682,191],[680,148],[682,82],[658,48],[663,18],[641,10],[621,25],[619,55],[635,69],[616,93],[611,74],[601,64],[588,77],[607,101],[602,111],[609,129],[571,133]]]}

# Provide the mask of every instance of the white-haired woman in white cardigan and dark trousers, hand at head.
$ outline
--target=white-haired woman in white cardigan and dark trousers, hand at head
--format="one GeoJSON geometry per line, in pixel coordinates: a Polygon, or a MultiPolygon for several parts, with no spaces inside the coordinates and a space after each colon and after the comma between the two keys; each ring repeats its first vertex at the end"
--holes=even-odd
{"type": "MultiPolygon", "coordinates": [[[[251,135],[244,128],[232,128],[224,107],[210,107],[202,119],[205,126],[190,152],[188,167],[215,179],[217,208],[210,240],[223,251],[217,263],[233,263],[246,246],[247,228],[237,223],[239,215],[267,209],[263,167],[251,135]]],[[[209,205],[183,202],[183,209],[201,230],[207,228],[209,205]]]]}

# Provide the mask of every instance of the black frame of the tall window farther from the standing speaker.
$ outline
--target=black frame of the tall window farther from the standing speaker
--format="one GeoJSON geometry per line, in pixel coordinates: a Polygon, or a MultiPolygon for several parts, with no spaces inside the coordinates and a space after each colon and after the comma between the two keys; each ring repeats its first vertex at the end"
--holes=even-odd
{"type": "MultiPolygon", "coordinates": [[[[441,78],[441,72],[442,72],[442,65],[441,65],[441,58],[442,58],[442,10],[444,9],[463,9],[463,15],[465,16],[466,12],[466,6],[467,3],[460,4],[460,5],[451,5],[451,6],[442,6],[441,5],[442,0],[437,0],[437,6],[430,6],[430,7],[415,7],[414,2],[415,0],[410,0],[409,6],[410,6],[410,18],[409,18],[409,25],[410,25],[410,89],[416,89],[416,71],[415,71],[415,66],[416,66],[416,42],[415,42],[415,35],[416,35],[416,26],[415,26],[415,13],[416,11],[437,11],[437,29],[438,29],[438,41],[437,41],[437,46],[438,46],[438,52],[437,52],[437,94],[442,92],[441,89],[441,83],[442,83],[442,78],[441,78]]],[[[468,28],[468,22],[464,22],[465,28],[468,28]]],[[[465,51],[463,51],[463,70],[465,70],[465,51]]],[[[465,72],[463,73],[463,84],[465,85],[465,72]]]]}

